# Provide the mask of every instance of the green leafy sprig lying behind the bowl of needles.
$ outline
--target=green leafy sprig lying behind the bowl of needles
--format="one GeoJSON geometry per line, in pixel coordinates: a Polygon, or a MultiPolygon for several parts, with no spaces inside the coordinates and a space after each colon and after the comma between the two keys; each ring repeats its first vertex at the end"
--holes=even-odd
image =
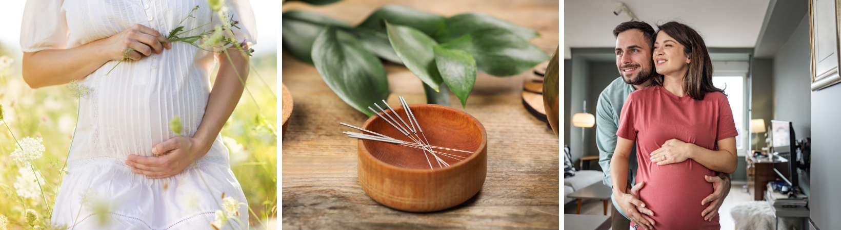
{"type": "Polygon", "coordinates": [[[424,85],[429,103],[449,106],[449,91],[462,107],[476,71],[512,76],[549,56],[528,42],[528,29],[484,13],[444,18],[397,5],[379,8],[351,26],[316,13],[283,13],[283,48],[315,65],[327,86],[351,107],[365,109],[389,97],[379,59],[405,65],[424,85]]]}

